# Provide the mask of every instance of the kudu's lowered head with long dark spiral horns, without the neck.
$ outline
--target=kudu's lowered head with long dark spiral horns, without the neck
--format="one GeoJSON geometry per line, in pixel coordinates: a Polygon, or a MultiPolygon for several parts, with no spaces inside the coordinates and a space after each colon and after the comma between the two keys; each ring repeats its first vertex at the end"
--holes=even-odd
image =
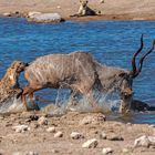
{"type": "Polygon", "coordinates": [[[143,45],[144,45],[144,43],[143,43],[143,34],[142,34],[141,46],[134,53],[133,59],[132,59],[132,71],[120,74],[120,79],[121,79],[120,87],[121,87],[121,100],[122,100],[121,106],[120,106],[121,113],[127,113],[131,108],[131,104],[133,101],[133,90],[132,90],[133,80],[141,73],[144,59],[151,52],[153,52],[154,45],[155,45],[155,40],[153,41],[152,48],[141,56],[141,59],[138,61],[138,65],[136,65],[136,56],[138,53],[141,53],[143,45]]]}

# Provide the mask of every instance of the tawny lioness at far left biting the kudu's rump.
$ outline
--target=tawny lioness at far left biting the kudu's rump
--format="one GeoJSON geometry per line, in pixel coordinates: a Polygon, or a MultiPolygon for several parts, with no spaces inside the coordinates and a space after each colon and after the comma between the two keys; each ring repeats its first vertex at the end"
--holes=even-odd
{"type": "Polygon", "coordinates": [[[20,72],[27,66],[21,61],[13,61],[11,66],[7,70],[4,76],[0,80],[0,103],[3,103],[9,97],[19,96],[22,89],[19,87],[20,72]]]}

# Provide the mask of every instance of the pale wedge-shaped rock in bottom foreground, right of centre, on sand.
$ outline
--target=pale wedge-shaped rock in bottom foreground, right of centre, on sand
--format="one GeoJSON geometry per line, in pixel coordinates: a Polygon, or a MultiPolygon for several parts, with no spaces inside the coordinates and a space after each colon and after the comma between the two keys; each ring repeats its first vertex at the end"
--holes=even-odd
{"type": "Polygon", "coordinates": [[[99,142],[96,138],[92,138],[86,141],[85,143],[82,144],[83,148],[95,148],[97,146],[99,142]]]}

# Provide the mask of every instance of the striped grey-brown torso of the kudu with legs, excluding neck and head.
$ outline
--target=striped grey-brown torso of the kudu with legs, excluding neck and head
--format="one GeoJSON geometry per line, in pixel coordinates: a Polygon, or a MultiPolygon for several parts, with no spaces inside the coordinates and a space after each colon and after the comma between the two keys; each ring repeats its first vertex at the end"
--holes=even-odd
{"type": "Polygon", "coordinates": [[[29,110],[25,96],[33,102],[33,92],[46,87],[65,87],[83,94],[92,106],[95,106],[92,90],[100,85],[95,63],[86,52],[70,54],[50,54],[34,60],[24,70],[28,86],[22,92],[22,103],[29,110]]]}

